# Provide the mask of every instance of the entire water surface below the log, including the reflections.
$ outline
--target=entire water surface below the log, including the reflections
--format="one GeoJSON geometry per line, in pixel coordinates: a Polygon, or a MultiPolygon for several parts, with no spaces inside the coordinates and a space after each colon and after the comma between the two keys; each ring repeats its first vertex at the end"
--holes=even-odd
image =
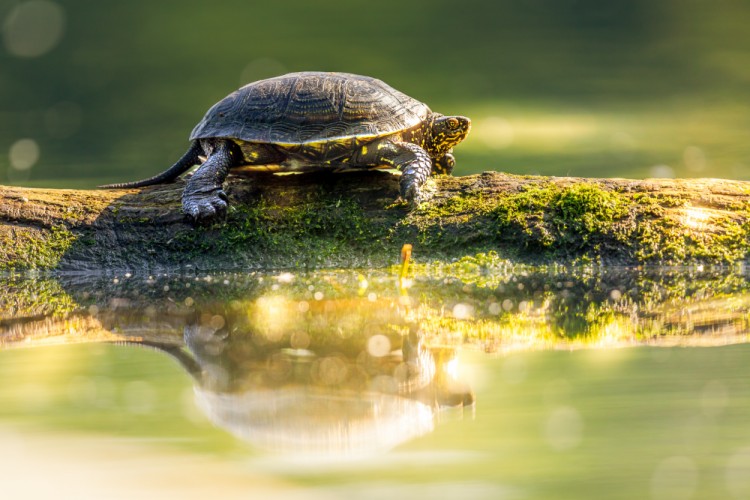
{"type": "Polygon", "coordinates": [[[743,269],[394,273],[3,277],[3,495],[750,493],[743,269]]]}

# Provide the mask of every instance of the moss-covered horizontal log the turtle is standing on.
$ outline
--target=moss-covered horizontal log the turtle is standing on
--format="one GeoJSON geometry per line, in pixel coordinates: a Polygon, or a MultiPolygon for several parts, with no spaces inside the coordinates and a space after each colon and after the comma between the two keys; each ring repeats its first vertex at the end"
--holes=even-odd
{"type": "Polygon", "coordinates": [[[743,261],[750,182],[439,176],[394,201],[384,172],[230,177],[226,220],[183,218],[183,181],[141,190],[0,186],[0,269],[362,267],[494,251],[521,263],[743,261]]]}

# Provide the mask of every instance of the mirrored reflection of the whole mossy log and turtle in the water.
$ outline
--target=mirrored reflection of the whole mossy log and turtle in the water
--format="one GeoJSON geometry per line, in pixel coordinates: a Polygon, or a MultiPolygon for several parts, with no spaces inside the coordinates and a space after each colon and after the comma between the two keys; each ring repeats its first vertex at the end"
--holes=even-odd
{"type": "MultiPolygon", "coordinates": [[[[748,288],[741,269],[533,270],[471,260],[413,280],[377,272],[11,275],[0,278],[0,345],[153,347],[190,373],[198,406],[217,426],[261,448],[351,455],[429,432],[443,408],[473,408],[458,376],[463,345],[746,342],[748,288]]],[[[508,383],[528,375],[520,362],[508,358],[508,383]]],[[[727,395],[707,386],[701,397],[710,413],[727,395]]],[[[575,448],[584,430],[563,403],[543,426],[558,451],[575,448]]]]}

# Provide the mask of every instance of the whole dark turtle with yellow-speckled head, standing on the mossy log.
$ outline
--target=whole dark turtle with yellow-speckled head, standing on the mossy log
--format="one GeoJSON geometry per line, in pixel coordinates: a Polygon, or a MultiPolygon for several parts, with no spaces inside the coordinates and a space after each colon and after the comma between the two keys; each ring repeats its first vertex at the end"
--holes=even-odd
{"type": "Polygon", "coordinates": [[[187,180],[182,208],[193,222],[226,214],[232,169],[305,172],[393,168],[400,196],[415,207],[431,174],[450,174],[453,147],[471,121],[433,113],[376,78],[306,71],[249,83],[214,104],[172,167],[149,179],[101,186],[137,188],[187,180]]]}

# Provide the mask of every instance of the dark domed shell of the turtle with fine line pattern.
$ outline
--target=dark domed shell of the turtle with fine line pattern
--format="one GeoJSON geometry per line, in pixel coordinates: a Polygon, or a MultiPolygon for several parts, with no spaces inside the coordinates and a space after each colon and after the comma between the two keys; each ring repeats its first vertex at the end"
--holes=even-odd
{"type": "Polygon", "coordinates": [[[416,127],[430,113],[425,104],[375,78],[290,73],[232,92],[208,110],[190,139],[343,145],[416,127]]]}

